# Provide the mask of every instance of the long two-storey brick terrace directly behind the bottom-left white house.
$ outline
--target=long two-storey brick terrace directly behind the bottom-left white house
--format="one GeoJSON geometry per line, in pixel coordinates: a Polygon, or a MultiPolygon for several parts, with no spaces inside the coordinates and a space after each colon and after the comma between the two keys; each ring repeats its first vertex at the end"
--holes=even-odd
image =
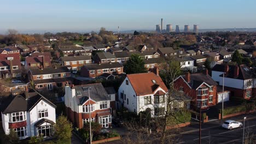
{"type": "Polygon", "coordinates": [[[63,87],[68,81],[72,83],[70,71],[66,67],[30,69],[28,79],[32,81],[38,91],[52,90],[54,87],[63,87]]]}

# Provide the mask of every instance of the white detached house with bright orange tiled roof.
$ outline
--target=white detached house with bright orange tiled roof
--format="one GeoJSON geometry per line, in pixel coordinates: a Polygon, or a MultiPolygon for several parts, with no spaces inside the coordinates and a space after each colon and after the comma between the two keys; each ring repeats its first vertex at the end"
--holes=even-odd
{"type": "Polygon", "coordinates": [[[156,74],[126,75],[118,89],[118,108],[126,107],[129,111],[136,113],[150,111],[152,117],[164,115],[167,91],[157,68],[156,74]]]}

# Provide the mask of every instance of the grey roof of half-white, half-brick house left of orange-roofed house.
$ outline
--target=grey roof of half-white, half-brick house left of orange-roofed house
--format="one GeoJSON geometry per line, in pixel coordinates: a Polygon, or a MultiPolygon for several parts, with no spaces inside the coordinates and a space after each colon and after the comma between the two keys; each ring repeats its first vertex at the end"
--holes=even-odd
{"type": "Polygon", "coordinates": [[[94,101],[104,101],[104,100],[110,100],[108,97],[108,93],[104,89],[101,83],[91,83],[88,85],[77,85],[74,86],[75,89],[75,95],[76,100],[78,104],[84,104],[85,101],[89,99],[89,93],[90,93],[90,99],[94,101]],[[88,90],[90,89],[90,91],[88,90]]]}

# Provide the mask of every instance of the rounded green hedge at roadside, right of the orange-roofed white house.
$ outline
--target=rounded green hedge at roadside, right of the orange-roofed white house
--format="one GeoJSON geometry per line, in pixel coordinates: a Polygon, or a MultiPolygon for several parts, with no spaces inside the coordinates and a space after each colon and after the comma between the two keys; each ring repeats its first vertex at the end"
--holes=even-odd
{"type": "Polygon", "coordinates": [[[191,120],[191,112],[188,110],[178,110],[172,116],[167,118],[167,125],[187,123],[191,120]]]}

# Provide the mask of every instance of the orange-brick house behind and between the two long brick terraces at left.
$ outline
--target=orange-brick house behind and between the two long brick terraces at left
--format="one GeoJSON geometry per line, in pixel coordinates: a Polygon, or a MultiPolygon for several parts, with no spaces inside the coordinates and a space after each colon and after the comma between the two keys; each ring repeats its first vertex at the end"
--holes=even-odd
{"type": "Polygon", "coordinates": [[[84,64],[91,63],[90,56],[74,56],[74,57],[61,57],[59,62],[62,66],[67,67],[69,70],[77,71],[82,67],[84,64]]]}

